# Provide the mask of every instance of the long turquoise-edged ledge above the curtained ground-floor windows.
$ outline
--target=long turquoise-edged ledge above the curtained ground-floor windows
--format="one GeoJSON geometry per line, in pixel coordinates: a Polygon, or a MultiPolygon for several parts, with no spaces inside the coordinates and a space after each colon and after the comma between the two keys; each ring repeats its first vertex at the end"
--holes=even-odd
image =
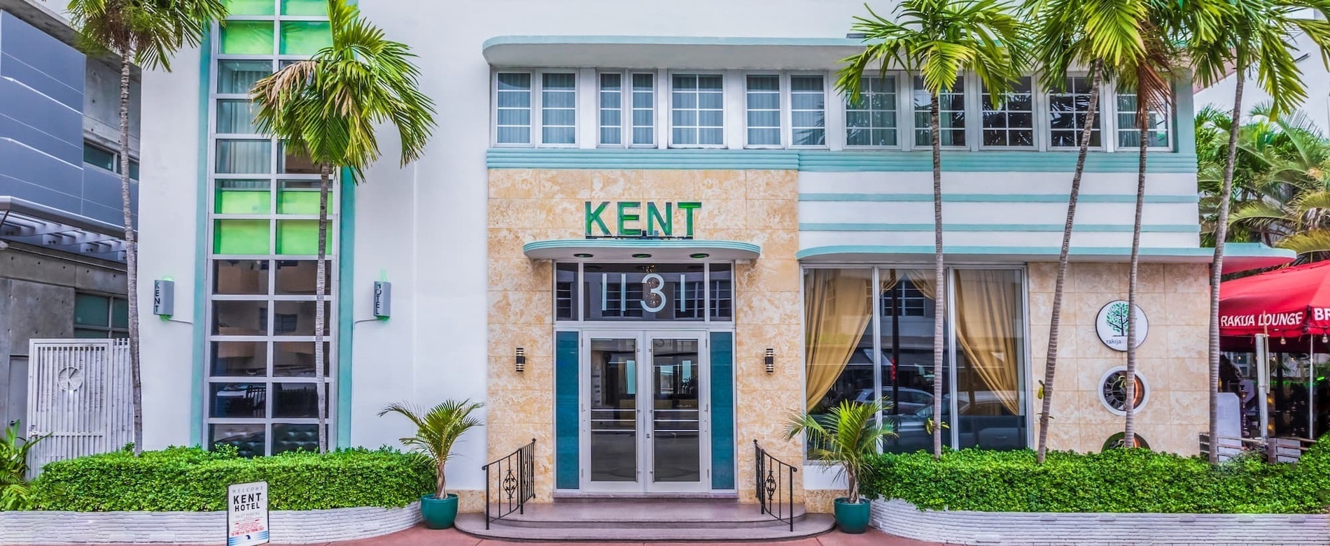
{"type": "MultiPolygon", "coordinates": [[[[932,262],[931,246],[871,246],[843,244],[803,248],[802,262],[932,262]]],[[[943,247],[944,258],[959,262],[1051,262],[1057,260],[1057,247],[943,247]]],[[[1214,248],[1141,248],[1141,260],[1148,263],[1209,263],[1214,248]]],[[[1271,248],[1261,243],[1228,243],[1224,246],[1224,272],[1238,272],[1293,262],[1291,250],[1271,248]]],[[[1072,247],[1073,262],[1127,262],[1128,247],[1072,247]]]]}

